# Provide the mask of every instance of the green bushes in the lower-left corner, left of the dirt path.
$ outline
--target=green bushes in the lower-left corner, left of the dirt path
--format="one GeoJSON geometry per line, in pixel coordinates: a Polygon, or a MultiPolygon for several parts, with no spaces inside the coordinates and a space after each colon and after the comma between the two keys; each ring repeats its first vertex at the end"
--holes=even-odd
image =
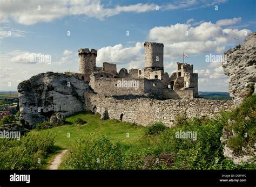
{"type": "Polygon", "coordinates": [[[54,143],[51,133],[25,135],[20,141],[0,139],[0,169],[43,169],[54,143]]]}

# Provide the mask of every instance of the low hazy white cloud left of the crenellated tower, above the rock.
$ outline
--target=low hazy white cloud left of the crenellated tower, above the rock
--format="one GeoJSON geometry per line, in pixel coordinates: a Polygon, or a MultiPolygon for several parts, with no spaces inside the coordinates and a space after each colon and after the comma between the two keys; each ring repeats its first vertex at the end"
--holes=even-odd
{"type": "MultiPolygon", "coordinates": [[[[64,73],[65,71],[78,71],[78,57],[62,56],[59,61],[66,62],[65,66],[52,63],[30,62],[30,57],[42,53],[33,53],[26,51],[0,51],[0,90],[17,90],[17,85],[31,78],[33,75],[54,71],[64,73]],[[64,59],[68,57],[68,59],[64,59]],[[62,59],[63,58],[63,59],[62,59]],[[75,62],[74,62],[75,61],[75,62]]],[[[52,59],[53,61],[53,59],[52,59]]]]}

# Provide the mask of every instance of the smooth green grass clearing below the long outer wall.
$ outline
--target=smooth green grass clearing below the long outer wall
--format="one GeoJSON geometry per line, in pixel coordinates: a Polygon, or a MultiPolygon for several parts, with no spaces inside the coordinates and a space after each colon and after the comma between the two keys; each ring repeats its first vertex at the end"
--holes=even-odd
{"type": "Polygon", "coordinates": [[[118,120],[107,119],[100,120],[98,114],[92,114],[89,112],[80,112],[73,116],[66,117],[66,123],[63,126],[57,126],[48,130],[32,130],[29,133],[46,133],[50,131],[55,135],[55,146],[62,149],[70,149],[77,140],[83,139],[86,136],[98,136],[107,135],[111,142],[121,142],[127,146],[136,145],[144,138],[145,127],[133,125],[129,123],[122,123],[118,120]],[[81,118],[87,123],[85,125],[79,125],[75,123],[77,118],[81,118]],[[70,138],[68,138],[70,133],[70,138]],[[127,138],[129,133],[129,138],[127,138]]]}

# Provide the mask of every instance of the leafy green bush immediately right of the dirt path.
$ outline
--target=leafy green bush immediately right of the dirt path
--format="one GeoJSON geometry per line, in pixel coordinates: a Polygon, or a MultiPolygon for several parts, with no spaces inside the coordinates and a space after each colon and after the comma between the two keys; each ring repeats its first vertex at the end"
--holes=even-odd
{"type": "Polygon", "coordinates": [[[142,155],[124,153],[121,143],[106,136],[79,141],[63,160],[65,169],[141,169],[142,155]]]}

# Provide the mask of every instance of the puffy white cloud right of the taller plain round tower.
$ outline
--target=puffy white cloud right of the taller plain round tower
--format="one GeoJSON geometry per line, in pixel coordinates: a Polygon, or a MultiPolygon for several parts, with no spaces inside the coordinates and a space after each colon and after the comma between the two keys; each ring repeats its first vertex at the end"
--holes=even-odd
{"type": "MultiPolygon", "coordinates": [[[[224,24],[223,21],[220,23],[224,24]]],[[[187,54],[223,53],[226,46],[235,44],[234,38],[244,41],[250,33],[251,31],[247,29],[223,29],[210,21],[198,26],[178,23],[152,28],[149,32],[149,40],[164,43],[165,56],[173,59],[180,56],[183,51],[187,54]]]]}

